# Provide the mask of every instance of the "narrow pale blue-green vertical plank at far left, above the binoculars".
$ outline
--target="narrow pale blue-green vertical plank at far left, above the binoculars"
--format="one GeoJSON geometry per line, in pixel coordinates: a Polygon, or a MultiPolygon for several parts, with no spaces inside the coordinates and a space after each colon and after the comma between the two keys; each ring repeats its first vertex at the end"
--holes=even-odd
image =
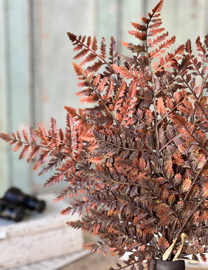
{"type": "MultiPolygon", "coordinates": [[[[25,1],[5,1],[6,37],[6,87],[7,95],[7,132],[22,130],[28,126],[28,92],[26,67],[25,1]]],[[[27,191],[29,188],[28,171],[25,161],[19,161],[19,153],[8,149],[8,183],[27,191]]]]}

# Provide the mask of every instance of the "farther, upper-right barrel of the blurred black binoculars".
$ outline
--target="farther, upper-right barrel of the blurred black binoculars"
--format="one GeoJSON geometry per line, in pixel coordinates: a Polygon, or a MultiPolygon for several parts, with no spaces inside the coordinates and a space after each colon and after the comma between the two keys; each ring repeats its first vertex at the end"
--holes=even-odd
{"type": "Polygon", "coordinates": [[[23,208],[38,212],[42,212],[45,209],[45,202],[43,200],[38,200],[35,196],[24,194],[20,189],[14,187],[5,193],[3,199],[8,202],[14,202],[23,208]]]}

